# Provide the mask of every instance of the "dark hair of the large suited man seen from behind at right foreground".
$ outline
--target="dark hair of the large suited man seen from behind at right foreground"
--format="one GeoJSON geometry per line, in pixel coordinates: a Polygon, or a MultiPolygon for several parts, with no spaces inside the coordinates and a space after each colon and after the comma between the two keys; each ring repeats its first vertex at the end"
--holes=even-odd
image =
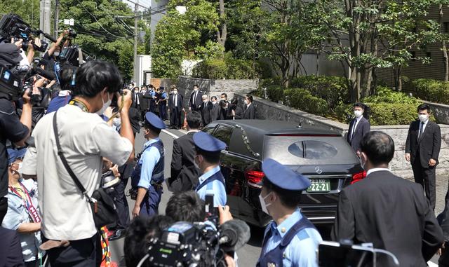
{"type": "Polygon", "coordinates": [[[394,156],[394,141],[384,132],[368,132],[363,136],[360,149],[373,165],[388,164],[394,156]]]}

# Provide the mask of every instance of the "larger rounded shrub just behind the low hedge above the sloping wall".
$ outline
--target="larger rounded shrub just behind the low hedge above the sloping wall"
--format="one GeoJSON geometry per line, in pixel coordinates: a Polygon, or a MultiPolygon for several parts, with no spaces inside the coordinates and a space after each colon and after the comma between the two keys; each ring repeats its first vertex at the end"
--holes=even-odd
{"type": "Polygon", "coordinates": [[[290,86],[304,88],[316,97],[326,100],[330,111],[334,111],[341,104],[349,103],[351,95],[344,77],[337,76],[301,76],[294,78],[290,86]]]}

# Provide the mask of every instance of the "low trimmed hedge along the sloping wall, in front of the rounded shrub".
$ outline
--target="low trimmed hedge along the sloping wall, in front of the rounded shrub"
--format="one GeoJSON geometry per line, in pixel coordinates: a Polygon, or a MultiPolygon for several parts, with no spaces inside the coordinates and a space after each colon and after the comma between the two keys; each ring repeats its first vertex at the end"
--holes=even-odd
{"type": "Polygon", "coordinates": [[[289,107],[319,116],[326,116],[328,114],[328,103],[326,100],[311,95],[308,90],[287,89],[283,91],[283,95],[289,107]]]}

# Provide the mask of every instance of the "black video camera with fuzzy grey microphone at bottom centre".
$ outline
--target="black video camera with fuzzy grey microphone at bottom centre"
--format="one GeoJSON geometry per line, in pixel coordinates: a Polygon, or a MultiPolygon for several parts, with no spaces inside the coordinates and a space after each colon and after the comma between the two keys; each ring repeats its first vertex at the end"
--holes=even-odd
{"type": "Polygon", "coordinates": [[[205,222],[178,221],[163,230],[160,238],[150,240],[148,254],[138,267],[145,266],[146,261],[147,266],[227,266],[225,254],[234,254],[248,242],[250,228],[238,219],[218,226],[217,215],[207,202],[206,198],[208,219],[205,222]]]}

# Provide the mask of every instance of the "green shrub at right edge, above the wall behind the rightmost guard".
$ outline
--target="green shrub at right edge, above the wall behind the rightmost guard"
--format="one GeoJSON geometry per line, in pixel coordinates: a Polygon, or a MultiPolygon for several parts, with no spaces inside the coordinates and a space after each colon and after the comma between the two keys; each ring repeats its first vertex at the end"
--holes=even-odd
{"type": "Polygon", "coordinates": [[[429,78],[413,81],[417,97],[430,102],[449,104],[449,83],[429,78]]]}

